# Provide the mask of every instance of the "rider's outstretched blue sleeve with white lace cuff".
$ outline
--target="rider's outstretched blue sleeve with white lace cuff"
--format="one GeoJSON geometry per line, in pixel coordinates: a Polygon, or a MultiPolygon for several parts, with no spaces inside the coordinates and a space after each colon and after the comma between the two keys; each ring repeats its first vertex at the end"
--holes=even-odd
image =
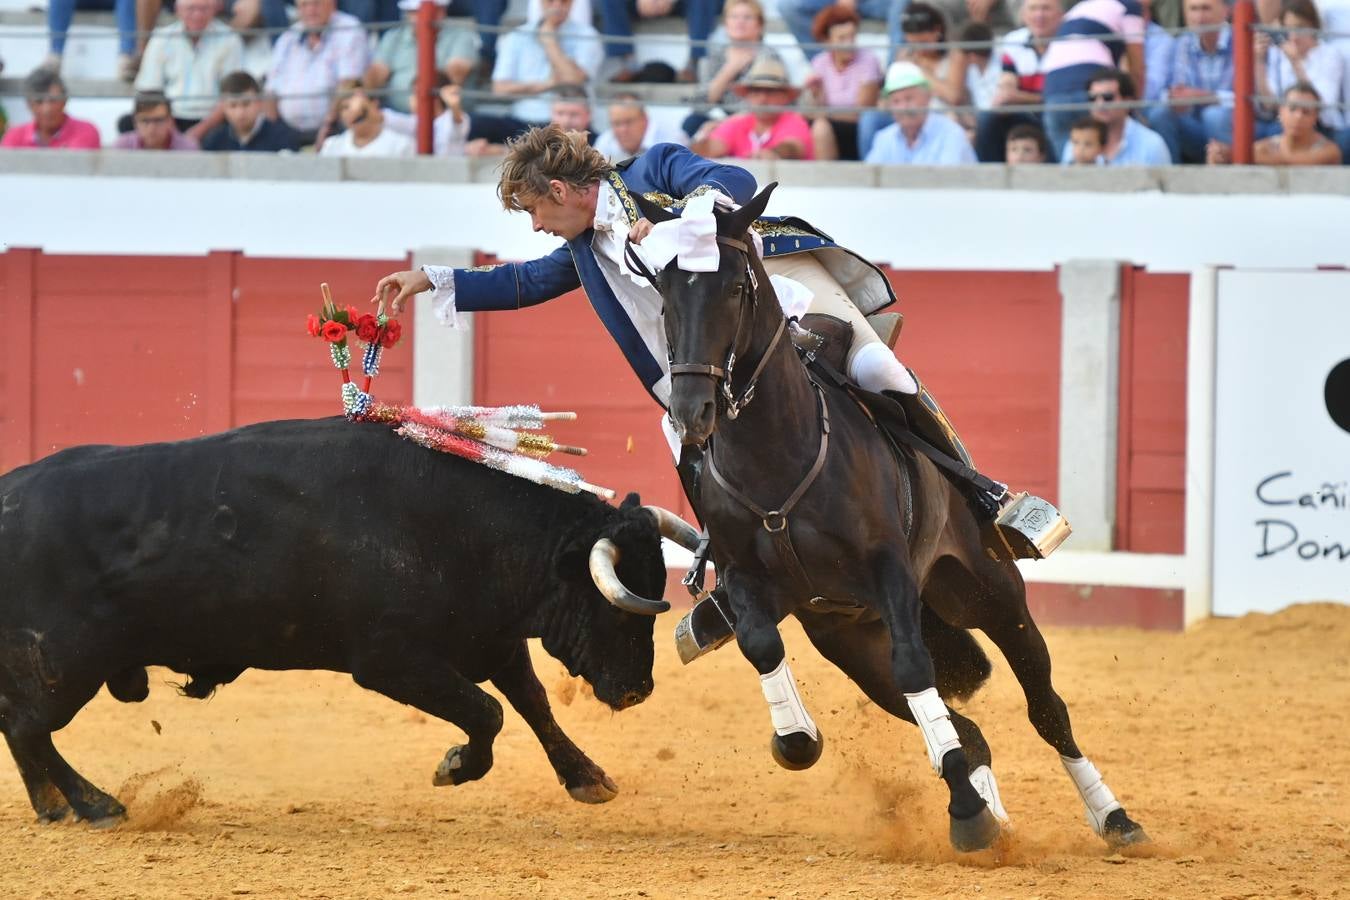
{"type": "Polygon", "coordinates": [[[572,251],[563,244],[554,252],[525,263],[505,263],[474,269],[423,266],[435,290],[431,294],[436,317],[452,324],[455,312],[466,313],[520,309],[580,287],[572,251]]]}

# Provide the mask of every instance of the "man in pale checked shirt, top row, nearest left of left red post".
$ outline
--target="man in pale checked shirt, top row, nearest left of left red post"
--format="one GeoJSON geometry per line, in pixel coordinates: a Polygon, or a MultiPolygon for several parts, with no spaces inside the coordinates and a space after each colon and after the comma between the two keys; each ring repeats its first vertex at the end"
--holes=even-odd
{"type": "Polygon", "coordinates": [[[269,115],[310,144],[332,125],[333,96],[366,72],[370,45],[360,20],[338,12],[335,0],[296,0],[296,12],[271,51],[269,115]]]}

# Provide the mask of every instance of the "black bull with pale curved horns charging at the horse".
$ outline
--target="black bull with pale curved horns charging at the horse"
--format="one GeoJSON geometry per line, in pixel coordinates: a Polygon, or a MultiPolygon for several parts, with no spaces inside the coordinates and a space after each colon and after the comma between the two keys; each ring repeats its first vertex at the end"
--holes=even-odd
{"type": "Polygon", "coordinates": [[[436,784],[491,768],[502,710],[475,684],[491,680],[568,792],[603,801],[617,788],[554,721],[525,644],[541,638],[613,708],[651,694],[653,619],[606,600],[597,546],[612,590],[664,609],[641,599],[666,568],[636,497],[614,509],[383,425],[68,449],[0,476],[0,730],[39,818],[115,820],[122,804],[51,733],[105,683],[143,700],[147,665],[188,675],[197,698],[247,668],[350,672],[468,735],[436,784]]]}

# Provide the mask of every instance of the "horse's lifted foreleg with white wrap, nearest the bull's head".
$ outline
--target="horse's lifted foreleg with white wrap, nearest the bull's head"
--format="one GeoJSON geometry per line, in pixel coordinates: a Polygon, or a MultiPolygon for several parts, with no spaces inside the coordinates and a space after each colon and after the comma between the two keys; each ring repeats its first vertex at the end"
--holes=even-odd
{"type": "Polygon", "coordinates": [[[809,769],[821,758],[825,737],[802,703],[796,680],[787,664],[783,638],[778,633],[782,615],[767,613],[770,594],[759,587],[745,588],[728,576],[728,596],[736,611],[736,642],[760,675],[760,688],[768,702],[774,737],[770,752],[784,769],[809,769]]]}

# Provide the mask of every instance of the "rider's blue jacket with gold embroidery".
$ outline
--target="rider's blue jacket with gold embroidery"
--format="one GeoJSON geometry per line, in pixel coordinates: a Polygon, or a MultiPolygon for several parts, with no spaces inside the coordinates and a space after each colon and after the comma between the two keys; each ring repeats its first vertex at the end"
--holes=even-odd
{"type": "MultiPolygon", "coordinates": [[[[644,194],[668,209],[706,190],[720,190],[738,204],[755,196],[755,177],[738,166],[705,159],[679,144],[656,144],[640,157],[622,162],[610,174],[629,223],[641,213],[632,194],[644,194]]],[[[890,282],[875,266],[852,251],[838,247],[829,235],[790,216],[764,217],[755,223],[764,240],[764,256],[811,252],[864,313],[894,302],[890,282]]],[[[586,289],[595,314],[618,344],[620,351],[651,391],[662,379],[660,363],[652,358],[628,318],[628,313],[605,281],[595,252],[593,229],[586,229],[554,252],[524,263],[504,263],[455,270],[455,306],[464,312],[520,309],[560,297],[576,287],[586,289]]]]}

